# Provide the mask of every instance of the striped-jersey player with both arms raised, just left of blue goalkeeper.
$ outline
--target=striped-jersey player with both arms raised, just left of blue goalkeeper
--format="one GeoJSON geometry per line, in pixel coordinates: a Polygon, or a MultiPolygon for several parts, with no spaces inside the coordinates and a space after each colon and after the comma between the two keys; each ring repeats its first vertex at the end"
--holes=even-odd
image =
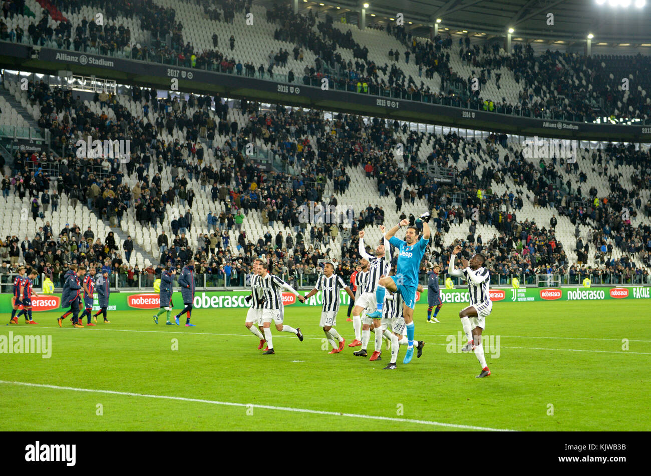
{"type": "MultiPolygon", "coordinates": [[[[380,230],[384,233],[384,226],[380,226],[380,230]]],[[[371,313],[378,308],[376,302],[376,287],[380,282],[381,276],[387,276],[391,268],[391,254],[389,253],[389,241],[382,239],[380,244],[375,249],[375,256],[368,254],[364,247],[365,231],[359,231],[359,255],[368,261],[368,280],[361,289],[361,295],[355,301],[355,308],[353,308],[353,318],[361,315],[362,310],[371,313]]],[[[361,349],[353,352],[358,357],[367,356],[367,346],[370,340],[370,329],[373,328],[375,332],[375,349],[368,360],[381,360],[380,354],[382,349],[382,332],[380,319],[370,319],[364,317],[361,319],[362,332],[361,332],[361,349]]]]}

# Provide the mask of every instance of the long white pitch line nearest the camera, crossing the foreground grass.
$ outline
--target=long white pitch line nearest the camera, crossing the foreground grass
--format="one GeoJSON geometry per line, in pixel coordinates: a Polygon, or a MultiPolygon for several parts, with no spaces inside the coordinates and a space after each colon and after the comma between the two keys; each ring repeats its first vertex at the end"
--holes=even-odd
{"type": "Polygon", "coordinates": [[[168,395],[148,395],[146,393],[132,393],[128,391],[115,391],[115,390],[94,390],[90,388],[75,388],[75,387],[62,387],[58,385],[48,385],[48,384],[33,384],[29,382],[10,382],[7,380],[0,380],[0,384],[7,385],[23,385],[28,387],[39,387],[39,388],[53,388],[55,390],[72,390],[72,391],[87,391],[92,393],[110,393],[111,395],[124,395],[126,397],[146,397],[152,399],[167,399],[167,400],[180,400],[184,402],[195,402],[195,403],[209,403],[213,405],[227,405],[227,406],[243,406],[247,408],[265,408],[266,410],[281,410],[283,412],[296,412],[296,413],[309,413],[314,415],[329,415],[329,416],[345,416],[351,418],[363,418],[370,420],[383,420],[383,421],[396,421],[399,423],[417,423],[418,425],[431,425],[434,427],[448,427],[448,428],[460,428],[464,430],[484,430],[484,431],[516,431],[516,430],[505,430],[497,428],[488,428],[488,427],[475,427],[473,425],[455,425],[454,423],[441,423],[440,421],[430,421],[430,420],[415,420],[409,418],[393,418],[393,417],[382,417],[375,415],[361,415],[354,413],[340,413],[340,412],[326,412],[324,410],[308,410],[307,408],[292,408],[289,406],[271,406],[271,405],[257,405],[254,403],[234,403],[234,402],[220,402],[215,400],[203,400],[203,399],[188,399],[185,397],[170,397],[168,395]]]}

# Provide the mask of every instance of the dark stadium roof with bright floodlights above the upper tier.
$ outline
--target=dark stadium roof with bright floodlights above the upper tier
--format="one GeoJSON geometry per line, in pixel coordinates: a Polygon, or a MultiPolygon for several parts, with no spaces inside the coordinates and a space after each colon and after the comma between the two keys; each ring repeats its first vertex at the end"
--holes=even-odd
{"type": "MultiPolygon", "coordinates": [[[[615,0],[341,0],[336,3],[303,0],[299,7],[329,10],[333,15],[345,11],[359,11],[359,5],[368,1],[367,23],[387,23],[398,12],[404,14],[405,26],[420,36],[428,36],[430,25],[441,18],[439,29],[446,33],[477,34],[492,38],[505,36],[514,28],[514,38],[554,42],[583,42],[589,33],[594,42],[618,44],[651,43],[648,27],[651,25],[651,1],[642,8],[610,5],[615,0]],[[337,10],[337,7],[341,7],[337,10]],[[547,25],[547,14],[553,14],[553,25],[547,25]],[[371,14],[375,17],[372,18],[371,14]],[[411,24],[409,24],[411,21],[411,24]]],[[[645,45],[646,46],[646,45],[645,45]]]]}

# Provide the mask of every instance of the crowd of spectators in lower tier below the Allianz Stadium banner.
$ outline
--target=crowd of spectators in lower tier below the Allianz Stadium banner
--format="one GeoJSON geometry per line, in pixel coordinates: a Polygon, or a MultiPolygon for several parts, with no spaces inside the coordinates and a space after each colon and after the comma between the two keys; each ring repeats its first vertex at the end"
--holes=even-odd
{"type": "MultiPolygon", "coordinates": [[[[133,213],[142,226],[152,226],[158,230],[159,226],[162,228],[164,218],[170,217],[171,229],[161,230],[158,237],[161,251],[159,264],[180,265],[192,256],[199,263],[199,274],[210,274],[210,280],[206,278],[206,282],[226,282],[227,277],[229,283],[236,278],[243,280],[251,257],[260,254],[270,256],[274,265],[287,276],[314,276],[319,271],[319,259],[339,256],[339,250],[333,250],[332,246],[337,235],[342,238],[341,259],[337,259],[337,265],[342,269],[351,269],[357,259],[357,231],[382,223],[381,207],[371,203],[365,209],[355,210],[353,216],[359,218],[350,229],[331,224],[308,229],[299,220],[298,213],[300,205],[310,202],[336,206],[336,194],[350,186],[350,177],[346,172],[350,167],[361,167],[369,177],[376,178],[378,194],[393,194],[398,211],[402,211],[403,203],[408,208],[409,202],[413,204],[416,197],[424,197],[428,201],[434,216],[430,224],[435,231],[425,263],[447,262],[453,245],[444,248],[443,237],[452,224],[463,224],[465,220],[468,235],[461,239],[464,252],[487,252],[489,263],[501,284],[506,284],[503,280],[510,274],[533,279],[535,274],[568,273],[580,276],[589,271],[612,273],[621,279],[641,279],[647,276],[642,264],[646,267],[651,264],[648,226],[633,228],[630,220],[622,218],[624,207],[630,207],[631,217],[635,217],[638,210],[646,216],[650,215],[650,204],[644,205],[643,209],[639,198],[639,192],[648,187],[651,176],[648,151],[608,146],[592,153],[590,158],[593,165],[598,164],[603,168],[603,173],[611,182],[611,194],[598,197],[596,189],[590,189],[587,194],[583,194],[581,187],[572,190],[571,182],[568,182],[567,191],[562,190],[558,186],[560,176],[555,159],[541,160],[536,165],[513,150],[500,157],[500,151],[508,144],[504,137],[497,135],[491,135],[486,141],[466,140],[454,133],[427,137],[424,133],[418,135],[406,128],[401,130],[398,122],[372,118],[365,123],[360,116],[352,114],[339,114],[332,120],[326,120],[323,114],[316,111],[293,111],[283,107],[277,107],[275,111],[262,111],[258,104],[248,101],[240,103],[248,120],[245,124],[237,124],[229,121],[225,113],[228,105],[218,97],[189,96],[187,99],[161,100],[156,98],[155,93],[152,96],[150,90],[140,88],[133,88],[132,99],[138,103],[141,99],[148,99],[145,107],[156,111],[160,121],[145,124],[141,117],[133,117],[126,107],[120,105],[117,98],[97,95],[94,98],[96,103],[115,112],[117,120],[109,125],[105,119],[102,120],[104,112],[98,117],[83,105],[81,99],[72,101],[72,94],[61,88],[51,88],[43,82],[30,83],[28,96],[30,101],[40,106],[40,122],[55,129],[53,135],[57,137],[57,144],[63,146],[64,156],[55,157],[51,153],[38,157],[36,154],[18,153],[12,173],[2,181],[3,196],[13,192],[24,198],[29,194],[31,202],[35,204],[31,210],[33,218],[41,213],[46,218],[49,213],[56,213],[63,195],[68,197],[72,206],[89,207],[98,217],[109,220],[111,226],[120,226],[124,214],[133,213]],[[159,133],[168,127],[170,133],[176,127],[185,129],[187,142],[175,140],[166,144],[160,140],[159,133]],[[208,142],[211,150],[214,148],[215,155],[215,162],[208,163],[199,152],[202,141],[197,139],[208,138],[210,133],[215,137],[215,131],[218,132],[217,137],[222,139],[208,142]],[[408,134],[404,167],[398,165],[394,152],[399,132],[408,134]],[[120,133],[124,134],[122,137],[132,134],[140,137],[132,150],[133,160],[124,166],[120,166],[117,159],[89,159],[77,157],[74,153],[72,144],[79,137],[90,134],[93,138],[117,138],[120,133]],[[224,135],[228,139],[221,142],[224,135]],[[264,140],[275,159],[286,166],[288,172],[266,172],[247,160],[244,153],[247,137],[264,140]],[[431,148],[428,163],[436,163],[452,171],[451,183],[433,179],[417,166],[415,157],[423,144],[431,148]],[[472,159],[466,166],[458,167],[461,157],[466,157],[469,152],[478,153],[482,160],[477,162],[472,159]],[[637,170],[631,178],[634,184],[631,190],[624,189],[618,179],[621,165],[631,165],[637,170]],[[56,178],[50,177],[46,171],[51,166],[57,170],[56,178]],[[150,173],[153,176],[150,177],[150,173]],[[167,191],[161,187],[163,174],[169,174],[173,179],[173,185],[167,191]],[[124,183],[125,175],[137,178],[136,185],[128,187],[124,183]],[[501,196],[494,194],[490,184],[493,180],[504,183],[506,176],[513,179],[516,188],[501,196]],[[53,179],[55,190],[49,192],[53,179]],[[199,183],[202,193],[210,192],[215,208],[217,204],[223,207],[223,211],[208,216],[206,228],[204,218],[193,217],[190,210],[195,194],[193,182],[199,183]],[[333,184],[335,192],[329,197],[324,195],[323,185],[327,182],[333,184]],[[458,198],[456,194],[461,196],[458,201],[453,200],[458,198]],[[557,240],[555,224],[547,226],[518,219],[523,198],[533,198],[540,207],[556,208],[559,216],[566,215],[573,223],[580,222],[594,228],[585,243],[575,243],[579,256],[577,265],[569,262],[566,249],[557,240]],[[187,211],[171,216],[168,207],[187,211]],[[242,230],[242,222],[249,213],[259,213],[263,226],[282,222],[284,226],[292,228],[293,233],[284,237],[279,233],[275,238],[268,233],[264,237],[257,237],[257,240],[256,237],[249,237],[242,230]],[[497,233],[493,237],[482,238],[475,232],[477,222],[494,226],[497,233]],[[202,235],[197,243],[188,243],[186,230],[198,226],[197,223],[201,223],[201,228],[208,230],[208,233],[202,235]],[[165,231],[171,233],[169,237],[165,236],[165,231]],[[595,246],[596,258],[600,260],[598,270],[587,268],[589,243],[595,246]],[[624,252],[621,259],[612,258],[613,247],[624,252]]],[[[566,164],[566,167],[568,173],[585,174],[576,165],[566,164]]],[[[409,216],[409,220],[415,223],[413,215],[409,216]]],[[[25,263],[45,269],[48,261],[41,259],[41,255],[46,256],[48,250],[51,256],[61,256],[61,261],[53,261],[53,268],[56,261],[63,269],[64,265],[70,265],[75,260],[92,263],[109,259],[115,274],[124,274],[124,282],[132,282],[130,272],[136,269],[132,267],[130,259],[133,247],[130,250],[116,249],[111,245],[111,241],[115,244],[111,233],[111,239],[107,237],[104,243],[97,240],[87,243],[85,236],[80,241],[76,232],[72,233],[72,239],[70,233],[59,233],[56,237],[50,233],[51,230],[44,229],[40,240],[36,240],[36,237],[26,239],[29,243],[25,245],[25,250],[28,250],[26,258],[25,250],[20,244],[17,245],[23,252],[25,263]],[[33,244],[35,241],[36,246],[33,244]],[[33,250],[34,256],[29,250],[33,250]],[[120,271],[115,268],[114,260],[120,260],[120,271]]],[[[18,238],[7,237],[6,243],[3,242],[9,266],[15,265],[12,259],[16,261],[20,256],[20,252],[15,255],[12,241],[18,242],[18,238]]],[[[0,250],[0,255],[5,252],[0,250]]],[[[157,267],[152,269],[155,275],[157,267]]],[[[148,272],[147,276],[150,275],[148,272]]]]}

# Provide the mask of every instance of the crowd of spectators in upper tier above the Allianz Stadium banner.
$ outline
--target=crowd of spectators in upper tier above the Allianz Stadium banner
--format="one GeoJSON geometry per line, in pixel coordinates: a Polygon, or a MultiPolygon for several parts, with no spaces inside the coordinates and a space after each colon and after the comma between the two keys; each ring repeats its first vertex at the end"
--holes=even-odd
{"type": "MultiPolygon", "coordinates": [[[[79,12],[82,5],[80,0],[56,0],[53,3],[62,12],[79,12]]],[[[5,2],[5,18],[23,11],[23,4],[23,0],[5,2]]],[[[363,90],[370,94],[471,109],[486,109],[486,104],[490,103],[489,111],[537,118],[566,116],[569,120],[592,121],[598,116],[651,116],[651,100],[645,93],[646,88],[651,87],[648,80],[651,57],[639,54],[624,59],[628,64],[626,78],[632,77],[638,86],[642,86],[629,90],[620,87],[622,59],[618,62],[617,59],[606,59],[599,55],[586,58],[575,53],[549,50],[536,57],[531,45],[519,43],[514,44],[509,55],[494,43],[471,45],[468,36],[459,38],[458,49],[455,49],[452,37],[447,34],[426,40],[391,23],[382,29],[395,36],[402,43],[404,51],[391,48],[386,58],[371,58],[368,48],[355,42],[350,30],[343,33],[335,27],[329,14],[325,14],[323,20],[318,20],[318,12],[313,14],[309,10],[305,15],[295,15],[289,3],[277,3],[267,10],[266,20],[278,25],[274,38],[294,44],[294,48],[292,53],[286,48],[271,51],[268,64],[256,65],[251,60],[236,59],[232,55],[236,42],[234,36],[228,40],[222,38],[220,47],[219,34],[214,33],[214,49],[195,50],[189,42],[184,42],[184,25],[176,20],[174,8],[161,7],[153,0],[137,3],[128,0],[110,3],[92,0],[83,5],[101,8],[106,18],[104,25],[97,25],[93,18],[84,18],[79,25],[72,25],[69,20],[54,25],[48,10],[44,9],[41,20],[33,21],[29,26],[27,36],[33,44],[41,46],[54,42],[57,47],[76,51],[87,51],[90,47],[105,55],[120,52],[135,59],[238,75],[244,73],[251,77],[255,77],[257,71],[258,77],[268,75],[272,79],[275,66],[285,66],[292,53],[294,60],[302,62],[303,49],[307,49],[316,55],[316,60],[313,64],[301,66],[302,71],[290,70],[289,82],[321,85],[322,78],[326,77],[337,87],[351,91],[363,90]],[[134,42],[130,29],[122,23],[116,24],[119,16],[137,18],[141,29],[150,33],[151,42],[134,42]],[[340,48],[350,49],[354,61],[344,60],[337,51],[340,48]],[[450,54],[458,54],[462,62],[473,68],[469,77],[461,77],[450,67],[450,54]],[[408,64],[410,59],[418,67],[418,77],[407,75],[401,68],[402,62],[408,64]],[[482,85],[494,80],[499,90],[503,68],[512,72],[516,83],[521,86],[516,103],[504,97],[485,97],[482,87],[471,87],[476,77],[482,85]],[[422,81],[423,74],[426,79],[433,79],[436,74],[440,79],[440,88],[433,90],[430,82],[426,85],[422,81]]],[[[214,3],[203,0],[197,2],[197,7],[217,23],[222,20],[232,23],[235,14],[243,15],[251,11],[251,0],[220,0],[214,3]]],[[[0,19],[0,36],[3,39],[20,42],[24,35],[20,28],[9,30],[0,19]]]]}

